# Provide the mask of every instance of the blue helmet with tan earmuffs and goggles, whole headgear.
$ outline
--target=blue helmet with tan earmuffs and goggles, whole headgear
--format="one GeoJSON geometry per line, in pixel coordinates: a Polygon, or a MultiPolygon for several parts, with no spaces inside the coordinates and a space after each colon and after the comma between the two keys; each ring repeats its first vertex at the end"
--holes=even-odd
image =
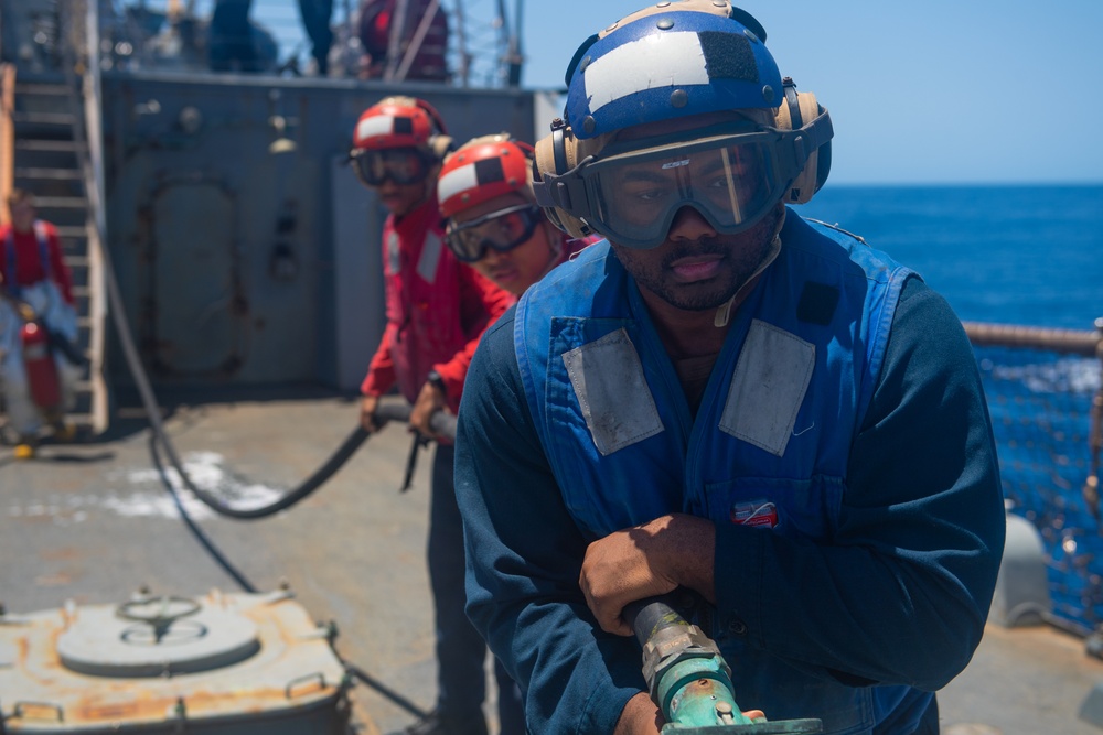
{"type": "Polygon", "coordinates": [[[587,40],[565,119],[536,143],[533,191],[548,218],[646,249],[682,207],[736,234],[779,202],[807,202],[827,177],[831,118],[781,77],[764,40],[727,0],[658,2],[587,40]],[[733,115],[652,126],[715,112],[733,115]],[[620,134],[636,126],[649,127],[620,134]]]}

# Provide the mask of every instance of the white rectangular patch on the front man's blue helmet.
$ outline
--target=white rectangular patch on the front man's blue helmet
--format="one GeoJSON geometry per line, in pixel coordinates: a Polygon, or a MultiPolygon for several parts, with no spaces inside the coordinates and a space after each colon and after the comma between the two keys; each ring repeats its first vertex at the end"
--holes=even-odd
{"type": "Polygon", "coordinates": [[[586,67],[585,80],[590,112],[596,112],[645,89],[708,84],[708,73],[697,34],[675,31],[613,48],[586,67]]]}

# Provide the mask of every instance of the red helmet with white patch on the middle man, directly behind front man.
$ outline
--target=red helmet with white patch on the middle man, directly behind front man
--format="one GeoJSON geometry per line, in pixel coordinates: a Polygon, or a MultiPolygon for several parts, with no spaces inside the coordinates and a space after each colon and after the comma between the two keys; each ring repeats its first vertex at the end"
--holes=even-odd
{"type": "Polygon", "coordinates": [[[503,132],[468,141],[445,159],[437,182],[437,202],[445,217],[479,206],[503,194],[533,194],[533,147],[503,132]]]}

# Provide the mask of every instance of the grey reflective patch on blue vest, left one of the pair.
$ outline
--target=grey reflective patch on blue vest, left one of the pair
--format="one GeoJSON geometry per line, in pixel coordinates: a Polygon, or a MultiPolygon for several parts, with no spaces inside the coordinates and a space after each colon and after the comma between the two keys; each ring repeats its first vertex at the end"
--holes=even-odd
{"type": "Polygon", "coordinates": [[[640,354],[623,328],[564,353],[563,363],[602,456],[663,431],[640,354]]]}

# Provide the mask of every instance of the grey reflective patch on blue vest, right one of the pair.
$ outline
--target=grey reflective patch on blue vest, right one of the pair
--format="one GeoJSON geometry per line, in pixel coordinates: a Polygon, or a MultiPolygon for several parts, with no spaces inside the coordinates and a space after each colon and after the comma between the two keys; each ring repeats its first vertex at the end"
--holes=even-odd
{"type": "Polygon", "coordinates": [[[731,377],[720,430],[782,456],[815,363],[812,343],[765,322],[751,322],[731,377]]]}

